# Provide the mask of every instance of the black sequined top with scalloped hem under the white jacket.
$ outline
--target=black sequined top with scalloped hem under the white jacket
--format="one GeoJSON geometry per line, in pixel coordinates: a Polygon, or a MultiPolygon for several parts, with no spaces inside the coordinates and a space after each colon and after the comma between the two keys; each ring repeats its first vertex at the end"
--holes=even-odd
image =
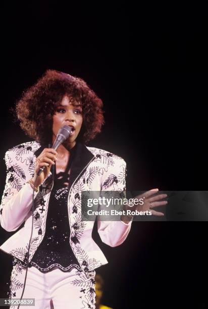
{"type": "Polygon", "coordinates": [[[50,193],[45,234],[30,262],[31,266],[43,272],[53,267],[59,267],[63,271],[76,267],[81,271],[69,242],[70,226],[67,207],[69,187],[65,183],[69,183],[68,171],[72,159],[73,156],[70,155],[65,173],[60,172],[57,175],[55,168],[54,186],[50,193]]]}

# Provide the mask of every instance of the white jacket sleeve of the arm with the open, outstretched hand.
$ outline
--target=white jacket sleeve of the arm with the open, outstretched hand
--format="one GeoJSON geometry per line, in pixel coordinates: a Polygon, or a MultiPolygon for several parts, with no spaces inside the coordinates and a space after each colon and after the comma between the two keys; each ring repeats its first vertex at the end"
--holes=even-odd
{"type": "MultiPolygon", "coordinates": [[[[120,158],[118,165],[109,166],[108,172],[103,173],[101,191],[122,191],[123,197],[126,197],[126,162],[120,158]]],[[[100,205],[98,210],[100,210],[100,205]]],[[[97,230],[102,242],[116,247],[124,242],[130,228],[123,221],[101,221],[100,216],[97,218],[97,230]]]]}

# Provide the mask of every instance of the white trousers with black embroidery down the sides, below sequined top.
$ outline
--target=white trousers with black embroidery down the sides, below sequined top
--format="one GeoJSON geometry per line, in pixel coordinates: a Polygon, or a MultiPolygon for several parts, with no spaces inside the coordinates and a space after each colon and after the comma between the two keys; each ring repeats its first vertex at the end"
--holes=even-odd
{"type": "MultiPolygon", "coordinates": [[[[26,270],[19,264],[13,267],[10,297],[20,298],[26,270]]],[[[37,268],[28,268],[23,298],[35,298],[35,306],[20,306],[22,309],[82,309],[95,308],[95,271],[84,273],[72,268],[63,272],[54,268],[46,273],[37,268]]],[[[17,309],[17,306],[10,306],[17,309]]]]}

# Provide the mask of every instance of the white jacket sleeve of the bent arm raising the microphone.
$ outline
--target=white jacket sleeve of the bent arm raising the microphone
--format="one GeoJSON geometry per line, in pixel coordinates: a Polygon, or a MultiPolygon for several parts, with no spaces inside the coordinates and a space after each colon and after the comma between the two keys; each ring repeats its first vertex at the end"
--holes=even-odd
{"type": "MultiPolygon", "coordinates": [[[[26,175],[19,162],[12,159],[11,150],[5,155],[7,178],[0,206],[1,226],[8,232],[16,231],[25,221],[32,207],[33,189],[26,183],[26,175]]],[[[37,192],[34,192],[34,198],[37,192]]]]}

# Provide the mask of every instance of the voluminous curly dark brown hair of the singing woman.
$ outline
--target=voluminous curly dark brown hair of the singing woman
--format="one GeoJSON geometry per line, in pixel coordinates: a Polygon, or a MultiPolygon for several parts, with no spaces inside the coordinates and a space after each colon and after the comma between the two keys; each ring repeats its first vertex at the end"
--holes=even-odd
{"type": "Polygon", "coordinates": [[[15,113],[23,131],[40,144],[51,143],[53,115],[64,95],[82,106],[79,140],[92,140],[104,124],[102,100],[83,79],[56,70],[47,70],[17,102],[15,113]]]}

